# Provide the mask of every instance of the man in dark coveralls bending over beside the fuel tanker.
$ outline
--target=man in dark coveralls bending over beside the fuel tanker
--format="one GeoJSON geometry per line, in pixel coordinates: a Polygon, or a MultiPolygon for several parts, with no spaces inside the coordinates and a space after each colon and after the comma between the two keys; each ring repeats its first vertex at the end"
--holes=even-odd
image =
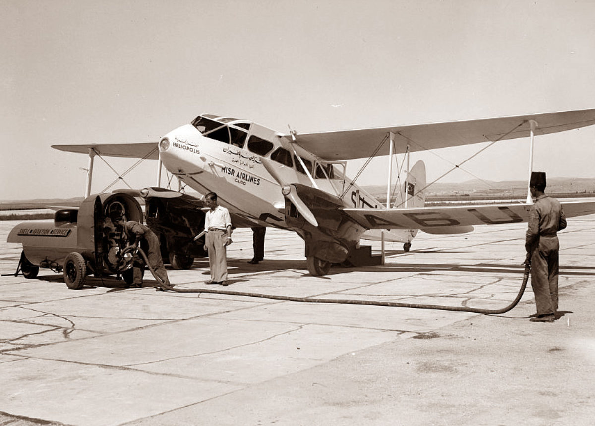
{"type": "MultiPolygon", "coordinates": [[[[139,247],[140,244],[140,248],[145,252],[149,264],[151,264],[156,276],[167,285],[171,285],[167,278],[165,267],[163,266],[161,248],[159,248],[159,238],[157,238],[155,233],[142,223],[134,222],[133,220],[124,222],[122,216],[111,217],[111,220],[114,225],[123,227],[129,245],[136,248],[139,247]]],[[[132,262],[134,282],[131,287],[142,287],[143,275],[145,274],[145,260],[138,252],[136,252],[132,262]]],[[[161,286],[158,286],[157,289],[161,289],[161,286]]]]}

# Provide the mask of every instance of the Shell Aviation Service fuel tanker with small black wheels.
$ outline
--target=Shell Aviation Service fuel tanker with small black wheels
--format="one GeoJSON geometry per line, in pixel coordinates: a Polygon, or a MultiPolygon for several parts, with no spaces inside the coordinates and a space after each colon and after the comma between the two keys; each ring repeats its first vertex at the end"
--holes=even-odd
{"type": "Polygon", "coordinates": [[[126,220],[143,222],[143,211],[133,196],[124,193],[93,194],[80,207],[57,210],[54,220],[35,220],[15,226],[8,242],[23,244],[17,273],[29,279],[39,268],[64,274],[68,288],[81,289],[88,275],[121,277],[133,282],[131,253],[123,253],[123,232],[109,219],[121,213],[126,220]]]}

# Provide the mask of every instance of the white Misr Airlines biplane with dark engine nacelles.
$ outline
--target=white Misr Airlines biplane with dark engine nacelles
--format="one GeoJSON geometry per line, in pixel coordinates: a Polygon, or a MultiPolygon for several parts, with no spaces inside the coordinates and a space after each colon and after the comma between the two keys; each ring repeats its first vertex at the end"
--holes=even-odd
{"type": "MultiPolygon", "coordinates": [[[[419,161],[409,168],[412,152],[481,142],[490,146],[501,140],[529,138],[530,176],[536,135],[593,124],[595,109],[588,109],[360,130],[282,133],[246,119],[205,114],[152,143],[52,147],[89,154],[87,194],[96,155],[159,160],[158,186],[163,165],[180,184],[201,194],[216,192],[219,203],[236,219],[232,220],[234,226],[273,226],[298,233],[305,242],[308,271],[322,276],[331,264],[356,264],[361,257],[362,238],[400,241],[408,250],[418,231],[464,233],[472,231],[475,225],[527,220],[530,194],[526,203],[425,206],[425,166],[419,161]],[[399,154],[403,155],[403,164],[406,159],[407,166],[403,166],[403,178],[401,173],[397,177],[393,195],[392,157],[399,154]],[[389,156],[386,203],[359,186],[357,176],[346,176],[347,160],[375,156],[389,156]]],[[[167,196],[181,195],[171,191],[167,196]]],[[[567,217],[593,214],[595,202],[563,203],[563,209],[567,217]]]]}

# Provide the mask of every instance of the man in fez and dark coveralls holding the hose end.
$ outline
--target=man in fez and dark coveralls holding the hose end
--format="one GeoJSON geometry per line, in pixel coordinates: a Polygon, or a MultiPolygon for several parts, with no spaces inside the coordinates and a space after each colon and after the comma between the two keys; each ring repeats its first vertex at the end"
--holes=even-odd
{"type": "Polygon", "coordinates": [[[546,173],[532,172],[529,188],[536,200],[529,210],[525,263],[531,263],[531,287],[537,305],[537,315],[530,321],[552,323],[558,310],[560,243],[556,233],[566,228],[566,217],[559,201],[544,194],[546,173]]]}

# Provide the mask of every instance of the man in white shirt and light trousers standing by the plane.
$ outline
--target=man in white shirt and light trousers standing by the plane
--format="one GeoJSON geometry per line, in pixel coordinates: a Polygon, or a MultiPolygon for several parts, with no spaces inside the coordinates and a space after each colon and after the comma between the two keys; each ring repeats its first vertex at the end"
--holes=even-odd
{"type": "Polygon", "coordinates": [[[209,252],[211,280],[207,284],[227,283],[227,246],[231,244],[231,219],[229,210],[217,204],[217,194],[205,195],[209,211],[205,214],[205,250],[209,252]]]}

